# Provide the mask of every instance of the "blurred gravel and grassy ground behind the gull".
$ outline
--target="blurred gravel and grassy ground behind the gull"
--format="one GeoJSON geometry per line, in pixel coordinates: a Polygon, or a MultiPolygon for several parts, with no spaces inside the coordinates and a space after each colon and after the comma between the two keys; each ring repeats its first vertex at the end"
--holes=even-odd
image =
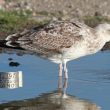
{"type": "MultiPolygon", "coordinates": [[[[0,39],[50,20],[110,22],[109,0],[0,0],[0,39]]],[[[106,48],[110,47],[110,44],[106,48]]],[[[104,49],[106,49],[104,48],[104,49]]]]}

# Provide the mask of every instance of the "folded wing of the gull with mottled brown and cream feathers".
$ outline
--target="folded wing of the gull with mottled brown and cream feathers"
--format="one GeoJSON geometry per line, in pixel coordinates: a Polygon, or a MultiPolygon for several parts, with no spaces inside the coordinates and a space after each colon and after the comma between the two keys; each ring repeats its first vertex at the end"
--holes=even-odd
{"type": "Polygon", "coordinates": [[[14,41],[20,47],[38,54],[62,53],[83,39],[83,25],[79,22],[55,21],[23,32],[14,41]]]}

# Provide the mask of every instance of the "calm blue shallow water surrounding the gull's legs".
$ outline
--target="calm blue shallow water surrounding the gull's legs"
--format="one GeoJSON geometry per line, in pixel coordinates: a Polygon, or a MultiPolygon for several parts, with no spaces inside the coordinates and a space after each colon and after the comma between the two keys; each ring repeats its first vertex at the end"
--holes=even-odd
{"type": "MultiPolygon", "coordinates": [[[[54,100],[57,100],[57,102],[59,100],[58,96],[56,96],[56,94],[58,95],[58,92],[56,92],[56,90],[58,90],[58,65],[34,55],[17,56],[16,54],[2,53],[0,54],[0,71],[23,71],[23,87],[17,89],[1,88],[0,103],[28,99],[19,101],[19,106],[28,106],[29,101],[32,102],[32,100],[34,100],[34,106],[32,103],[30,105],[32,110],[36,110],[35,103],[39,105],[37,105],[37,110],[49,110],[49,108],[53,110],[83,110],[74,107],[75,105],[78,107],[87,107],[88,104],[100,106],[102,110],[110,110],[110,52],[99,52],[92,56],[71,61],[68,63],[68,69],[69,80],[67,94],[68,97],[72,99],[70,101],[68,98],[67,102],[64,101],[65,99],[62,99],[62,101],[60,100],[63,102],[61,104],[62,107],[59,104],[57,104],[56,107],[54,100]],[[20,65],[16,67],[9,66],[11,62],[8,60],[9,58],[12,58],[12,61],[18,62],[20,65]],[[47,96],[44,93],[47,93],[47,96]],[[40,102],[39,97],[42,99],[40,102]],[[50,97],[52,97],[52,100],[50,97]],[[72,103],[73,100],[74,103],[72,103]],[[28,104],[26,105],[24,102],[28,104]],[[83,105],[81,105],[82,102],[85,102],[85,104],[83,103],[83,105]],[[52,106],[52,108],[51,104],[55,107],[52,106]],[[42,107],[44,108],[41,108],[40,105],[43,105],[42,107]],[[69,108],[70,105],[72,108],[69,108]]],[[[30,108],[25,109],[30,110],[30,108]]]]}

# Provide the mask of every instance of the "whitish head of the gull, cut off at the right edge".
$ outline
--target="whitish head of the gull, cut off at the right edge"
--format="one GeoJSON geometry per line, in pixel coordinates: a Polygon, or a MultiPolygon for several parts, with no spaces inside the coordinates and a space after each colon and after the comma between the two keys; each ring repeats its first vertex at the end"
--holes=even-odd
{"type": "Polygon", "coordinates": [[[96,27],[96,30],[98,32],[98,35],[100,35],[106,42],[110,41],[110,24],[109,23],[99,24],[96,27]]]}

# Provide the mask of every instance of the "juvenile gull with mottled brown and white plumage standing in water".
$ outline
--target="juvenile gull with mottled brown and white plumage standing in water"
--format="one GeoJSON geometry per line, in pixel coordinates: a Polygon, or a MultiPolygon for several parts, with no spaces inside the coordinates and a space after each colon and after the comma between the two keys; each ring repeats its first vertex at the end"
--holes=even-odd
{"type": "Polygon", "coordinates": [[[110,24],[91,28],[78,21],[53,21],[31,30],[9,35],[6,45],[22,48],[59,64],[59,76],[68,78],[67,62],[98,52],[110,41],[110,24]]]}

